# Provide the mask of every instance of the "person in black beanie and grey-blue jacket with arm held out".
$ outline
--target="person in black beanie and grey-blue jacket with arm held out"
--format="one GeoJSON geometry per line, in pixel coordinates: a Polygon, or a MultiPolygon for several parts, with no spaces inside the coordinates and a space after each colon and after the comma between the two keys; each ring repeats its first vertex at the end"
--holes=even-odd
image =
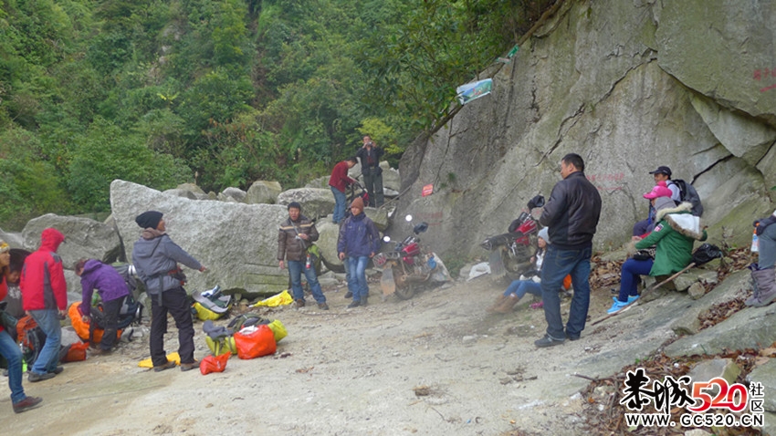
{"type": "Polygon", "coordinates": [[[163,214],[156,211],[141,213],[135,223],[143,229],[141,238],[132,249],[132,264],[145,284],[151,299],[151,361],[154,371],[163,371],[175,367],[175,362],[167,360],[164,351],[164,334],[167,333],[167,313],[173,316],[178,327],[178,355],[181,357],[181,370],[188,371],[199,367],[194,360],[194,321],[191,306],[184,290],[185,275],[178,263],[204,272],[205,268],[183,248],[173,243],[165,232],[163,214]]]}

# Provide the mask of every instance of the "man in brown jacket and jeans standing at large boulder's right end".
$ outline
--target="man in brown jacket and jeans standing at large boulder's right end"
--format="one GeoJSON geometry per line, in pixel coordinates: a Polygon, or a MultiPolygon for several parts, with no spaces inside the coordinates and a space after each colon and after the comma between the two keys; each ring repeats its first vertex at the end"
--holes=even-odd
{"type": "Polygon", "coordinates": [[[310,291],[321,310],[329,310],[326,296],[320,290],[318,277],[315,275],[315,265],[309,257],[309,246],[318,241],[318,230],[315,223],[301,214],[302,206],[298,202],[288,204],[288,219],[280,224],[278,230],[278,263],[280,269],[288,260],[288,274],[291,276],[291,291],[297,307],[305,306],[304,290],[302,289],[302,272],[310,291]]]}

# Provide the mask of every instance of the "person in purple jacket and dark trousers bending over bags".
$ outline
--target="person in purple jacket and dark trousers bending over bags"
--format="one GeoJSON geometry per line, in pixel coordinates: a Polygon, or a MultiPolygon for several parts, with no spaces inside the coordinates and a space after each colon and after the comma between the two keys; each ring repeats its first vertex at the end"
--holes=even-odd
{"type": "Polygon", "coordinates": [[[116,268],[105,265],[97,259],[81,259],[76,264],[76,275],[81,278],[81,305],[79,312],[83,321],[89,323],[89,340],[94,337],[97,323],[91,319],[91,296],[97,289],[102,298],[102,319],[104,332],[100,347],[92,346],[91,354],[110,353],[116,345],[119,333],[119,315],[124,299],[130,295],[127,283],[116,268]]]}

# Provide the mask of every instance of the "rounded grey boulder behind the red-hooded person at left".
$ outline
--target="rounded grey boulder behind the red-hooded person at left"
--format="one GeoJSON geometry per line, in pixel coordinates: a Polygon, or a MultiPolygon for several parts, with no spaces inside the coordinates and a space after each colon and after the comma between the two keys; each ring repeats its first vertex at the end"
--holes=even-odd
{"type": "Polygon", "coordinates": [[[26,223],[22,238],[24,248],[37,250],[40,234],[53,227],[65,235],[65,243],[59,245],[58,254],[67,269],[73,269],[81,258],[98,259],[106,263],[123,258],[121,241],[115,227],[89,218],[59,216],[53,213],[34,218],[26,223]]]}

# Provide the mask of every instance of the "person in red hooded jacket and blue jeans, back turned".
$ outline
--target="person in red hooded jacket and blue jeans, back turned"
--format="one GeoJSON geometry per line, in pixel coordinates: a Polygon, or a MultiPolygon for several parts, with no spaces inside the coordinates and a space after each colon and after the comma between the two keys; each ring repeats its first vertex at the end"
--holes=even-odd
{"type": "Polygon", "coordinates": [[[47,228],[40,235],[40,248],[27,256],[22,268],[19,288],[23,307],[46,334],[46,343],[30,369],[30,381],[51,379],[62,372],[62,367],[57,366],[61,338],[59,320],[65,317],[68,308],[68,284],[57,249],[64,241],[64,234],[47,228]]]}

